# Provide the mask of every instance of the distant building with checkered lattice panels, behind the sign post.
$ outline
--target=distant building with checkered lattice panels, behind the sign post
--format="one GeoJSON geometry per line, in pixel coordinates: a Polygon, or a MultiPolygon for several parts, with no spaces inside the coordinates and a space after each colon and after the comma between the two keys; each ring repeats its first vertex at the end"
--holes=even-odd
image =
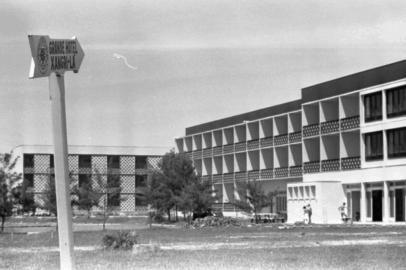
{"type": "MultiPolygon", "coordinates": [[[[17,158],[15,171],[22,174],[24,187],[39,206],[47,183],[54,177],[53,150],[50,145],[22,145],[13,149],[17,158]]],[[[120,192],[102,197],[100,207],[107,203],[116,212],[143,212],[145,203],[136,196],[137,190],[145,187],[148,175],[158,168],[166,151],[159,147],[69,146],[70,186],[101,181],[102,187],[117,187],[120,192]]]]}

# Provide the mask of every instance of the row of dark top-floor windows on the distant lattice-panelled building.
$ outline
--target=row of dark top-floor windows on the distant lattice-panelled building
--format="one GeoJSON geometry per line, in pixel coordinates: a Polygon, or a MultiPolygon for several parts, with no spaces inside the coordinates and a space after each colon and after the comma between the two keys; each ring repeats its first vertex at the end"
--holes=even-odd
{"type": "MultiPolygon", "coordinates": [[[[34,154],[24,154],[24,167],[34,168],[34,154]]],[[[54,168],[54,156],[49,155],[49,166],[54,168]]],[[[91,168],[92,167],[92,156],[91,155],[79,155],[79,168],[91,168]]],[[[120,156],[107,156],[107,168],[109,169],[120,169],[120,156]]],[[[147,169],[147,157],[137,156],[135,158],[135,168],[136,169],[147,169]]]]}

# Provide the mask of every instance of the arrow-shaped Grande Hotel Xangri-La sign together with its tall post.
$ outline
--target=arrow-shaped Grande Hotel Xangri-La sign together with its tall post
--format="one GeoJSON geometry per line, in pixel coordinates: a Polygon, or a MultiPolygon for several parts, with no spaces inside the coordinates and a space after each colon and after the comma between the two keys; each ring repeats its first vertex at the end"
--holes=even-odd
{"type": "Polygon", "coordinates": [[[49,77],[54,137],[55,191],[61,269],[75,269],[72,211],[70,206],[68,140],[66,132],[64,72],[79,71],[84,53],[76,38],[50,39],[28,36],[31,47],[29,78],[49,77]]]}

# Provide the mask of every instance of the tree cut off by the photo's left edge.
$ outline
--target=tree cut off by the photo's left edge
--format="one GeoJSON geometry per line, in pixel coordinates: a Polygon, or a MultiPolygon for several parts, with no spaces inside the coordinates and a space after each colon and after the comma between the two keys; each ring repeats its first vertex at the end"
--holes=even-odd
{"type": "Polygon", "coordinates": [[[13,171],[17,159],[12,160],[11,154],[0,156],[0,217],[1,232],[4,231],[6,218],[11,216],[16,200],[17,182],[21,179],[21,174],[13,171]]]}

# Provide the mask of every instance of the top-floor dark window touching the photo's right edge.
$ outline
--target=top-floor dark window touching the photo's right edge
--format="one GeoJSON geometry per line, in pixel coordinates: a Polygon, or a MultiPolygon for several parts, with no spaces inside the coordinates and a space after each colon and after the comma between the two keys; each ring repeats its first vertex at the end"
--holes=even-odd
{"type": "Polygon", "coordinates": [[[388,118],[406,115],[406,87],[386,91],[386,112],[388,118]]]}

